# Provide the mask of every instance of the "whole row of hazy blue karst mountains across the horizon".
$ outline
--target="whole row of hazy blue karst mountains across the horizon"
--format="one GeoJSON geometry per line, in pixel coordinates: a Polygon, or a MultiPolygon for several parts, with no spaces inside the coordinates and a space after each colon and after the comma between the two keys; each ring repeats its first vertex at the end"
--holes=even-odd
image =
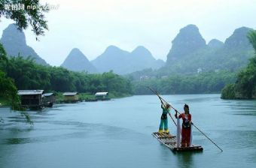
{"type": "MultiPolygon", "coordinates": [[[[63,68],[70,71],[87,71],[102,73],[114,71],[116,74],[138,72],[140,75],[165,76],[170,74],[197,74],[207,71],[238,71],[245,67],[248,58],[254,54],[247,34],[251,28],[236,28],[233,34],[223,42],[212,39],[209,43],[200,34],[195,25],[181,28],[172,40],[172,48],[166,55],[166,62],[156,60],[144,46],[138,46],[132,52],[117,46],[108,46],[105,51],[92,61],[89,61],[79,49],[72,49],[63,68]],[[148,71],[151,70],[151,71],[148,71]]],[[[47,65],[34,49],[26,44],[23,31],[17,30],[13,24],[5,28],[1,43],[10,56],[29,55],[35,62],[47,65]]]]}

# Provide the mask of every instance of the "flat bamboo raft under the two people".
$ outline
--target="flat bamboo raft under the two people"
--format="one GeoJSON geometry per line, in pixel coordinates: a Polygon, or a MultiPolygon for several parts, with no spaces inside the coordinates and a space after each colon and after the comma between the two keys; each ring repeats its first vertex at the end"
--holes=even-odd
{"type": "Polygon", "coordinates": [[[176,136],[167,133],[152,133],[152,135],[157,138],[159,142],[163,145],[166,145],[167,148],[171,149],[172,151],[203,151],[203,147],[200,145],[192,145],[191,147],[179,147],[177,148],[176,136]]]}

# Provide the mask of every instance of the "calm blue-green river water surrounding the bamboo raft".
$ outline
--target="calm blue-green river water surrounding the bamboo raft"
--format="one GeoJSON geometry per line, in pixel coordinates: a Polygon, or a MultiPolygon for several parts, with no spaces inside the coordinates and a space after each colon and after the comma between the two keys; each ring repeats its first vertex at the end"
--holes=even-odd
{"type": "MultiPolygon", "coordinates": [[[[220,95],[164,95],[173,107],[190,105],[203,152],[174,153],[151,133],[160,123],[154,95],[59,104],[29,111],[34,125],[0,108],[0,167],[255,167],[256,102],[224,101],[220,95]]],[[[174,114],[173,111],[171,111],[174,114]]],[[[175,133],[169,119],[169,129],[175,133]]]]}

